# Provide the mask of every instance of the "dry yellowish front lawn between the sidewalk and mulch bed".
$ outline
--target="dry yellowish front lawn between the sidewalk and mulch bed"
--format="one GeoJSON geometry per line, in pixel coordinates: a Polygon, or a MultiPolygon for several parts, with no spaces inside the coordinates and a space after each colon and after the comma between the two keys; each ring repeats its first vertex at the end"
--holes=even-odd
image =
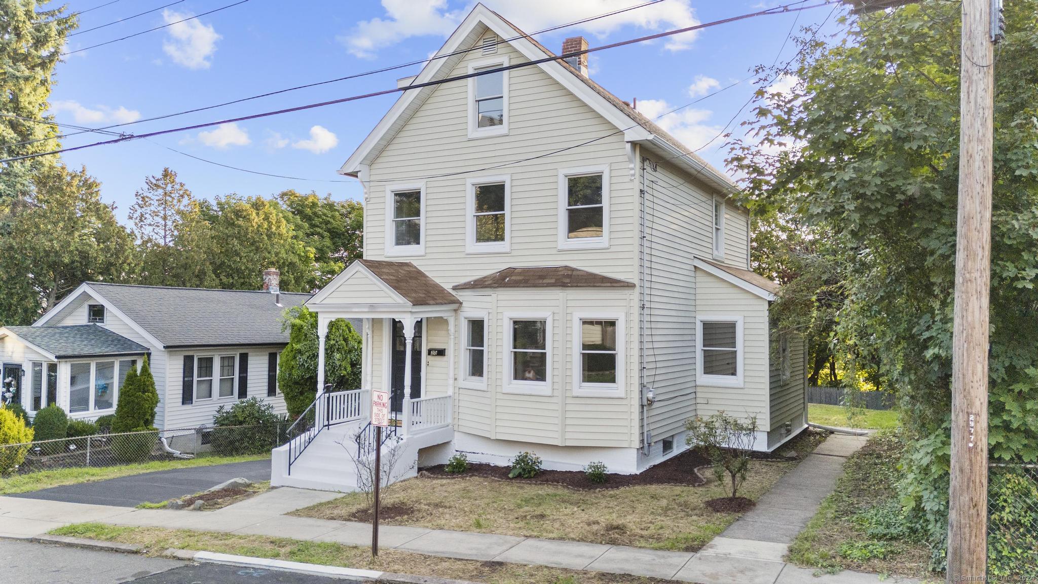
{"type": "MultiPolygon", "coordinates": [[[[795,464],[754,460],[739,494],[756,500],[795,464]]],[[[712,511],[704,504],[727,495],[712,480],[702,486],[585,490],[522,479],[421,476],[394,485],[383,504],[409,507],[384,521],[391,525],[695,551],[739,516],[712,511]]],[[[362,521],[365,510],[363,496],[353,493],[293,514],[362,521]]]]}

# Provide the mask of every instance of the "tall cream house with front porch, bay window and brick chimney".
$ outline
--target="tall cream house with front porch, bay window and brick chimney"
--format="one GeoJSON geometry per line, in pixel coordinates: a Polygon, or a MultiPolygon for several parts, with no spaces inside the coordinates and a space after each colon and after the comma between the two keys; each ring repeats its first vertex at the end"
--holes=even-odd
{"type": "Polygon", "coordinates": [[[758,450],[800,432],[804,342],[769,326],[778,288],[748,269],[729,177],[586,55],[516,68],[553,55],[482,4],[437,55],[399,84],[475,76],[403,92],[340,170],[364,187],[364,259],[306,306],[322,338],[364,320],[362,387],[315,402],[274,484],[351,489],[337,443],[371,431],[372,391],[422,464],[529,450],[638,473],[718,410],[756,417],[758,450]]]}

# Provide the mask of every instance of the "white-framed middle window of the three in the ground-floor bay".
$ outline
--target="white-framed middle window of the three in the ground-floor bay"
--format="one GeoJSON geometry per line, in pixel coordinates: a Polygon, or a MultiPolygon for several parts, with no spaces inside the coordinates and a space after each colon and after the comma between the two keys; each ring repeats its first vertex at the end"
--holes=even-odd
{"type": "Polygon", "coordinates": [[[506,393],[551,395],[551,315],[504,314],[506,393]]]}

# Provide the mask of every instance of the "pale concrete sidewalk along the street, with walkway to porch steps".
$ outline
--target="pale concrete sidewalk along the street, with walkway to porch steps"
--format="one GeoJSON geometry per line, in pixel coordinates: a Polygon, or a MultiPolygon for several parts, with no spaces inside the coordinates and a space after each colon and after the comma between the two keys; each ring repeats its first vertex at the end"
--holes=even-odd
{"type": "MultiPolygon", "coordinates": [[[[0,497],[0,535],[24,537],[45,533],[67,523],[102,522],[370,546],[371,524],[283,514],[339,496],[334,493],[281,487],[216,511],[128,509],[0,497]]],[[[880,582],[876,575],[852,572],[816,579],[812,577],[812,570],[783,562],[782,554],[785,552],[780,552],[776,548],[756,543],[754,549],[745,550],[739,555],[733,553],[732,549],[714,546],[718,539],[701,552],[691,553],[420,527],[381,526],[379,529],[379,542],[383,549],[461,559],[589,569],[701,584],[880,582]],[[749,561],[746,556],[755,557],[758,561],[749,561]]],[[[885,582],[914,581],[886,579],[885,582]]]]}

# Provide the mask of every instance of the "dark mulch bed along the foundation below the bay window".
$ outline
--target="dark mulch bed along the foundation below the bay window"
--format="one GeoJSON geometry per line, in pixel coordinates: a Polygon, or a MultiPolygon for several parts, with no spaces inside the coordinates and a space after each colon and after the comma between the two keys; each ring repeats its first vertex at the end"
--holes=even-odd
{"type": "Polygon", "coordinates": [[[681,454],[649,468],[637,475],[619,475],[610,473],[608,480],[596,484],[588,480],[583,471],[541,471],[531,479],[509,479],[509,467],[495,467],[480,462],[469,462],[468,470],[462,474],[450,474],[444,471],[444,464],[421,469],[422,476],[436,478],[484,477],[492,479],[514,480],[517,482],[532,482],[543,484],[558,484],[571,488],[599,489],[621,488],[639,484],[684,484],[699,486],[706,482],[695,469],[710,464],[710,460],[699,450],[687,450],[681,454]]]}

